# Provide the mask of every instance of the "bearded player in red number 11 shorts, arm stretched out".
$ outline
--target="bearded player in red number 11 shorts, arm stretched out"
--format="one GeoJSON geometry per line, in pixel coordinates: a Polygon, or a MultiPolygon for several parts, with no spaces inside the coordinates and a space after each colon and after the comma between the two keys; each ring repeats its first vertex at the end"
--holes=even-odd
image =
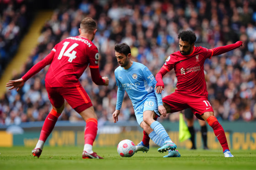
{"type": "Polygon", "coordinates": [[[208,92],[204,78],[203,64],[207,58],[218,56],[242,46],[242,41],[213,49],[196,47],[196,35],[192,31],[181,31],[178,35],[180,51],[171,54],[155,79],[156,92],[164,90],[163,76],[174,68],[177,77],[177,89],[163,98],[167,113],[174,113],[186,108],[201,120],[205,120],[212,128],[223,148],[224,157],[234,157],[230,151],[224,129],[214,117],[213,108],[208,101],[208,92]]]}

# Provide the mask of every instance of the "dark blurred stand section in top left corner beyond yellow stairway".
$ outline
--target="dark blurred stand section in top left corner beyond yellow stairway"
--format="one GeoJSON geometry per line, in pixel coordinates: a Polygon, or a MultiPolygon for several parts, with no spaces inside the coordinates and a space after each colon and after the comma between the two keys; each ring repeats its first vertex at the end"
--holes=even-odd
{"type": "Polygon", "coordinates": [[[0,1],[0,77],[32,21],[30,5],[32,2],[23,0],[0,1]]]}

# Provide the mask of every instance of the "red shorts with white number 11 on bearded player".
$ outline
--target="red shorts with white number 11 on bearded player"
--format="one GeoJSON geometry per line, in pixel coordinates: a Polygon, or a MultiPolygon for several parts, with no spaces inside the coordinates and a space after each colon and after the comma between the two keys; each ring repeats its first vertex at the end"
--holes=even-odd
{"type": "Polygon", "coordinates": [[[164,97],[163,102],[171,106],[171,113],[191,108],[192,113],[201,120],[203,120],[203,118],[201,118],[200,115],[205,112],[213,112],[213,108],[208,101],[208,98],[205,97],[200,98],[174,92],[164,97]]]}

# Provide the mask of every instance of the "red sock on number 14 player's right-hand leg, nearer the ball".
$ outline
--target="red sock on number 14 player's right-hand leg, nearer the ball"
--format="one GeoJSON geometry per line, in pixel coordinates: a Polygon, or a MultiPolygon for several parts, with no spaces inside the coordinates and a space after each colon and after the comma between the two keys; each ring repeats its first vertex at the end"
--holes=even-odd
{"type": "Polygon", "coordinates": [[[88,118],[85,127],[85,144],[93,144],[98,130],[98,121],[96,118],[88,118]]]}

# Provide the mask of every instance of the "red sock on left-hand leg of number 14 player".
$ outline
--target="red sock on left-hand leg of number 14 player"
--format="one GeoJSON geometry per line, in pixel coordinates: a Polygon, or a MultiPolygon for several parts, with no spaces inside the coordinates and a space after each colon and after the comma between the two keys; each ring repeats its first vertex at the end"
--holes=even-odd
{"type": "Polygon", "coordinates": [[[44,120],[43,128],[41,130],[39,140],[43,140],[43,142],[46,141],[48,136],[53,131],[53,128],[54,128],[59,116],[60,116],[60,113],[57,113],[55,110],[52,109],[50,111],[50,113],[44,120]]]}

